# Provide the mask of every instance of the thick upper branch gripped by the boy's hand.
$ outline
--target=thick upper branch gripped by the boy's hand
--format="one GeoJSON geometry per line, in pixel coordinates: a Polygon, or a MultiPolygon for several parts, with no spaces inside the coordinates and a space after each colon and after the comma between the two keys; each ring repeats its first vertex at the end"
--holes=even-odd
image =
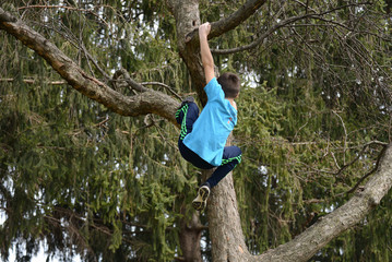
{"type": "MultiPolygon", "coordinates": [[[[211,23],[211,33],[209,35],[209,39],[223,35],[224,33],[236,28],[240,23],[251,16],[265,2],[265,0],[248,0],[242,7],[240,7],[228,17],[211,23]]],[[[186,37],[186,41],[199,41],[198,32],[199,28],[195,28],[191,33],[189,33],[186,37]]]]}

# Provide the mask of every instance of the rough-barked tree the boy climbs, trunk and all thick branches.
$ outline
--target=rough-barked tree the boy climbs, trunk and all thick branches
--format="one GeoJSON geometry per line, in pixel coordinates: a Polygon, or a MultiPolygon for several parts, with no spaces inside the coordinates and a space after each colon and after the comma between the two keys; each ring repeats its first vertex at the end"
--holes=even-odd
{"type": "MultiPolygon", "coordinates": [[[[200,24],[197,0],[167,0],[177,20],[178,45],[181,57],[192,76],[199,98],[205,103],[202,92],[204,78],[199,58],[197,34],[200,24]]],[[[249,0],[242,8],[227,19],[212,24],[213,36],[235,28],[264,3],[263,0],[249,0]],[[238,19],[241,17],[241,19],[238,19]],[[225,26],[224,26],[224,25],[225,26]],[[219,25],[219,26],[218,26],[219,25]],[[225,29],[222,29],[225,28],[225,29]],[[219,33],[218,33],[219,32],[219,33]]],[[[17,40],[41,56],[73,88],[94,99],[115,112],[123,116],[157,114],[175,122],[174,112],[178,102],[161,93],[149,91],[127,97],[106,84],[87,75],[70,58],[41,35],[26,26],[0,8],[0,29],[13,35],[17,40]]],[[[392,186],[392,144],[383,151],[378,171],[346,204],[324,216],[294,240],[269,250],[261,255],[250,255],[245,246],[238,214],[231,175],[228,175],[212,191],[207,207],[210,235],[214,261],[307,261],[318,250],[342,231],[353,227],[377,206],[392,186]]],[[[198,237],[197,237],[198,238],[198,237]]]]}

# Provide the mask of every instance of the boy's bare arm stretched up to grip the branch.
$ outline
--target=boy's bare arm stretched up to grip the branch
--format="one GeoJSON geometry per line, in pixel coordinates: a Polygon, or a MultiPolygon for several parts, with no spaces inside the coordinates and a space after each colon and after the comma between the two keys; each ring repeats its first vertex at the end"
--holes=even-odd
{"type": "Polygon", "coordinates": [[[203,62],[206,83],[210,83],[210,81],[215,78],[214,59],[212,58],[207,40],[210,31],[211,24],[209,22],[199,26],[200,53],[201,60],[203,62]]]}

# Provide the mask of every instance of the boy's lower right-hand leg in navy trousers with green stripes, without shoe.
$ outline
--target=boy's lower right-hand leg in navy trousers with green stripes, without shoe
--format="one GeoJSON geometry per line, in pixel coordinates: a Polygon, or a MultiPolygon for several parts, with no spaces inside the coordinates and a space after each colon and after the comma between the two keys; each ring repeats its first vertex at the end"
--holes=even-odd
{"type": "Polygon", "coordinates": [[[211,188],[215,187],[226,175],[241,162],[241,150],[237,146],[225,146],[222,165],[206,180],[211,188]]]}

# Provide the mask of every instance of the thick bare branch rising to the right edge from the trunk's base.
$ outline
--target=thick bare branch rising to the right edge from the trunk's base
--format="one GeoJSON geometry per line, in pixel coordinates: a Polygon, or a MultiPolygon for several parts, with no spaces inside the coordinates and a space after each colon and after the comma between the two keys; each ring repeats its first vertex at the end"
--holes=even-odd
{"type": "Polygon", "coordinates": [[[294,240],[254,257],[258,261],[308,261],[333,238],[353,227],[378,204],[392,187],[392,144],[385,147],[376,175],[365,189],[297,236],[294,240]],[[300,247],[300,249],[298,249],[300,247]]]}

